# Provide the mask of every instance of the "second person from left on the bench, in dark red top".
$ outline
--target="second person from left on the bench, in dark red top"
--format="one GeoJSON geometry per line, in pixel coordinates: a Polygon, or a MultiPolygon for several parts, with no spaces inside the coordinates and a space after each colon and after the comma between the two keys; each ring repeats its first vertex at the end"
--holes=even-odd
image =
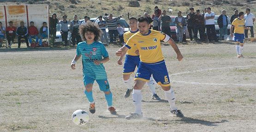
{"type": "Polygon", "coordinates": [[[8,47],[11,48],[15,38],[16,27],[13,26],[13,22],[9,22],[9,27],[6,28],[6,38],[8,41],[8,47]]]}

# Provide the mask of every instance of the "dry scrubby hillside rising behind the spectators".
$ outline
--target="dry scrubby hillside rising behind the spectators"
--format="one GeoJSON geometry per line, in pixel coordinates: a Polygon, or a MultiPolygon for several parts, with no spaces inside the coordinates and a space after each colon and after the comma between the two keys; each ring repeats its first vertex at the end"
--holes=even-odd
{"type": "Polygon", "coordinates": [[[221,10],[225,9],[228,16],[233,14],[234,9],[245,12],[245,8],[250,8],[251,12],[256,14],[256,0],[137,0],[140,7],[128,6],[129,1],[132,0],[0,0],[0,3],[1,5],[48,4],[51,13],[56,12],[58,17],[65,14],[70,19],[75,14],[79,19],[83,19],[85,15],[93,18],[104,13],[113,13],[113,16],[124,14],[124,18],[127,19],[128,12],[130,17],[139,17],[143,12],[153,14],[155,6],[161,10],[172,9],[173,11],[168,12],[168,15],[177,15],[177,11],[182,11],[183,15],[186,15],[191,6],[201,11],[211,7],[215,14],[220,14],[221,10]]]}

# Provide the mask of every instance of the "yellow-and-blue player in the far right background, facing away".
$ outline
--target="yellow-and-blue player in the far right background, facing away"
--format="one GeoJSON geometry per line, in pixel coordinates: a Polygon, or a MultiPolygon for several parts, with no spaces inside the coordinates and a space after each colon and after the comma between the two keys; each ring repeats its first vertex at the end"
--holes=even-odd
{"type": "Polygon", "coordinates": [[[249,29],[248,27],[245,27],[244,24],[244,12],[239,12],[238,14],[238,18],[236,18],[233,22],[232,22],[232,26],[230,28],[230,37],[235,36],[235,42],[236,42],[236,50],[237,50],[237,57],[241,58],[244,57],[242,55],[242,51],[244,49],[244,29],[249,29]],[[232,33],[234,29],[234,34],[232,33]]]}

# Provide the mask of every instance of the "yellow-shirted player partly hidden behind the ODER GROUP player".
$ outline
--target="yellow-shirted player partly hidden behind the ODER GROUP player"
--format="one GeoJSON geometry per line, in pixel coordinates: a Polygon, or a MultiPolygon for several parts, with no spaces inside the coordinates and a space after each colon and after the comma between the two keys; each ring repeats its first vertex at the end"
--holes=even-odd
{"type": "MultiPolygon", "coordinates": [[[[135,17],[131,17],[129,19],[129,26],[131,28],[130,31],[126,32],[124,34],[124,41],[125,43],[128,41],[128,39],[135,33],[137,33],[139,30],[138,30],[138,27],[137,27],[137,19],[135,17]]],[[[125,64],[124,64],[124,69],[123,69],[123,79],[124,79],[124,82],[125,82],[125,85],[127,87],[127,90],[125,92],[125,98],[128,98],[132,92],[132,80],[130,78],[131,76],[131,73],[134,72],[135,70],[135,67],[136,66],[139,66],[139,62],[140,62],[140,57],[139,55],[137,55],[135,52],[136,52],[137,48],[133,48],[133,49],[128,49],[127,50],[127,54],[125,55],[121,55],[119,57],[119,60],[117,61],[117,63],[119,65],[122,65],[122,60],[125,56],[125,64]]],[[[161,100],[159,98],[159,96],[155,93],[155,80],[153,77],[150,77],[149,79],[149,82],[148,83],[148,86],[150,88],[150,91],[152,93],[152,99],[156,99],[156,100],[161,100]]]]}

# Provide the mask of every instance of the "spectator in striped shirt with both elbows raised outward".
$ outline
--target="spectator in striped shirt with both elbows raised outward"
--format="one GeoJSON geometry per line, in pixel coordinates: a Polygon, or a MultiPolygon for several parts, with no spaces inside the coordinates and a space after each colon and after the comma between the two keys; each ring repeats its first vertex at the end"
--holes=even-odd
{"type": "Polygon", "coordinates": [[[117,21],[122,18],[123,15],[120,15],[119,17],[113,18],[113,14],[109,14],[109,16],[103,17],[104,20],[107,22],[107,29],[108,34],[110,37],[110,43],[113,43],[113,34],[115,37],[118,37],[118,31],[117,31],[117,21]]]}

